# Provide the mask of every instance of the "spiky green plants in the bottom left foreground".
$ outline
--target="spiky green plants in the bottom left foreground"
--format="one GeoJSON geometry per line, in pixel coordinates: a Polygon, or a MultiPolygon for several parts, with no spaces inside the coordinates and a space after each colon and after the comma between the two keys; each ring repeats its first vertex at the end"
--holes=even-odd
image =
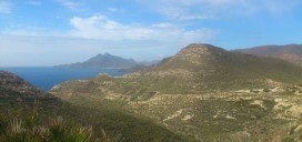
{"type": "Polygon", "coordinates": [[[37,111],[28,116],[13,116],[0,113],[0,142],[119,142],[118,135],[110,135],[102,130],[102,135],[93,134],[91,125],[68,123],[63,118],[49,119],[38,124],[37,111]]]}

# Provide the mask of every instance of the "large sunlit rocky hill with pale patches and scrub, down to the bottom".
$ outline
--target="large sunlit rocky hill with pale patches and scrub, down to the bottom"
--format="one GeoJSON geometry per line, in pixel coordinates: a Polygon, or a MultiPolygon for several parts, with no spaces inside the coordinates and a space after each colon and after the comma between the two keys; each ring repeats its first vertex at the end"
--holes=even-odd
{"type": "Polygon", "coordinates": [[[198,141],[281,141],[302,131],[301,72],[283,60],[190,44],[151,69],[64,82],[51,94],[147,118],[198,141]]]}

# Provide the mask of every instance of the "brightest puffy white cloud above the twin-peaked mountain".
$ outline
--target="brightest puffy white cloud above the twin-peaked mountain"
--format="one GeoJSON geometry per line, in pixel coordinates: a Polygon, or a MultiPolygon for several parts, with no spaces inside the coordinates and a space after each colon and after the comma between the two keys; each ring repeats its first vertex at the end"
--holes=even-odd
{"type": "Polygon", "coordinates": [[[72,37],[103,40],[169,40],[175,42],[202,42],[214,34],[210,29],[187,30],[172,23],[151,26],[123,24],[104,16],[74,17],[70,20],[74,30],[72,37]]]}

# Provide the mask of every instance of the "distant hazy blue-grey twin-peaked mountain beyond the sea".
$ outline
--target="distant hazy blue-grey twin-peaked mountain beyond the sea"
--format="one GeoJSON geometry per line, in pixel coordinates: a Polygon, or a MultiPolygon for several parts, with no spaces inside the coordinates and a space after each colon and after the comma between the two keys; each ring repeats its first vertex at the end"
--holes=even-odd
{"type": "Polygon", "coordinates": [[[125,70],[142,70],[148,65],[152,65],[157,61],[151,62],[137,62],[133,59],[124,59],[109,53],[98,54],[87,61],[61,64],[57,67],[61,68],[112,68],[112,69],[125,69],[125,70]]]}

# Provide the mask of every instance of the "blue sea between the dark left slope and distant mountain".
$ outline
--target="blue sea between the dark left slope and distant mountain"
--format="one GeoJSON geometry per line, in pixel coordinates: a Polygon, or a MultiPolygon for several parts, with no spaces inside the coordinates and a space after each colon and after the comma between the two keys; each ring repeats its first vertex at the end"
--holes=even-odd
{"type": "Polygon", "coordinates": [[[53,85],[64,81],[89,79],[100,73],[107,73],[113,77],[119,77],[127,73],[118,69],[74,69],[52,67],[0,68],[0,70],[16,73],[44,91],[49,91],[53,85]]]}

